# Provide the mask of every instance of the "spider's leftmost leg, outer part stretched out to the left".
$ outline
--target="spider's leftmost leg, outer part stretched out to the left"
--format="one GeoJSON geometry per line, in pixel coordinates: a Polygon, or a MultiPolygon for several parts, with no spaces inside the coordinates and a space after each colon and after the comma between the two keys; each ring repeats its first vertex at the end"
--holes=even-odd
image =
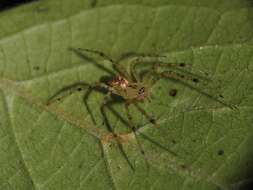
{"type": "Polygon", "coordinates": [[[72,84],[70,86],[66,86],[62,89],[60,89],[58,92],[56,92],[53,96],[51,96],[47,100],[47,105],[50,105],[56,101],[61,101],[62,99],[66,98],[67,96],[71,95],[75,91],[81,91],[90,85],[85,82],[79,82],[76,84],[72,84]]]}

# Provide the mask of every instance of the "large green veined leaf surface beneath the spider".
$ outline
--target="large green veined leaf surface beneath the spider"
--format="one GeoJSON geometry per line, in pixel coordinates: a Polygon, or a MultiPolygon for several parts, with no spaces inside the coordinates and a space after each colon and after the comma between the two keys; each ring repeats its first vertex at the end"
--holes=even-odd
{"type": "MultiPolygon", "coordinates": [[[[0,14],[0,189],[237,189],[251,182],[253,23],[246,0],[44,0],[0,14]],[[119,58],[155,53],[208,73],[197,84],[230,109],[185,85],[160,80],[153,100],[134,107],[137,138],[123,104],[83,91],[46,105],[60,89],[108,75],[69,48],[119,58]],[[176,97],[169,96],[177,89],[176,97]],[[176,155],[174,155],[175,153],[176,155]]],[[[112,69],[108,61],[94,56],[112,69]]],[[[124,61],[128,66],[129,61],[124,61]]]]}

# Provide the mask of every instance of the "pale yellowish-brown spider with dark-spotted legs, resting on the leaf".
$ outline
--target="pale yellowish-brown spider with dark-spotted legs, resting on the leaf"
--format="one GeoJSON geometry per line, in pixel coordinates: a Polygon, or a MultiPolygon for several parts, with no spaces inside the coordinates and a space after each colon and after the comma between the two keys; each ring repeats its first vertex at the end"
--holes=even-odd
{"type": "MultiPolygon", "coordinates": [[[[100,105],[100,111],[104,120],[104,123],[108,130],[117,137],[117,134],[113,132],[113,129],[110,125],[110,122],[106,115],[106,106],[108,106],[109,102],[113,97],[117,96],[123,100],[124,109],[126,112],[127,120],[130,129],[136,137],[138,146],[141,150],[141,153],[144,154],[144,150],[138,141],[137,138],[137,128],[133,122],[131,113],[129,111],[129,106],[133,105],[137,108],[137,110],[154,126],[157,126],[156,119],[151,117],[145,109],[143,109],[139,103],[143,103],[148,100],[151,101],[151,89],[156,84],[158,80],[161,78],[174,80],[177,82],[186,85],[199,93],[219,102],[220,104],[232,108],[230,104],[226,103],[223,100],[220,100],[217,97],[211,96],[208,93],[194,87],[192,84],[188,84],[185,81],[190,81],[191,83],[198,83],[200,80],[209,81],[208,78],[199,76],[195,73],[189,72],[185,67],[189,66],[185,63],[166,63],[164,61],[160,61],[159,58],[162,56],[158,55],[137,55],[135,53],[127,53],[122,55],[117,61],[114,61],[108,55],[103,52],[93,50],[93,49],[82,49],[82,48],[71,48],[77,55],[83,58],[89,58],[87,54],[93,54],[99,56],[100,58],[109,61],[112,64],[112,68],[114,72],[111,72],[106,67],[97,62],[92,62],[96,67],[102,69],[109,73],[109,76],[102,77],[102,80],[95,82],[93,84],[89,84],[86,82],[79,82],[72,84],[70,86],[66,86],[55,93],[48,100],[48,105],[55,101],[60,101],[64,97],[72,94],[74,91],[81,91],[83,89],[87,89],[84,94],[84,103],[88,113],[91,116],[92,122],[96,124],[96,120],[92,114],[91,108],[87,102],[87,99],[93,90],[105,92],[105,96],[100,105]],[[84,52],[84,53],[83,53],[84,52]],[[123,67],[120,63],[125,60],[130,59],[129,69],[123,67]],[[148,69],[138,70],[138,66],[150,66],[148,69]],[[163,71],[160,71],[163,69],[163,71]],[[111,98],[111,99],[110,99],[111,98]]],[[[122,151],[123,152],[123,151],[122,151]]],[[[124,152],[123,152],[124,154],[124,152]]],[[[174,154],[174,153],[173,153],[174,154]]],[[[175,155],[175,154],[174,154],[175,155]]],[[[125,156],[126,157],[126,156],[125,156]]],[[[128,161],[129,163],[129,161],[128,161]]],[[[129,163],[130,164],[130,163],[129,163]]],[[[130,164],[131,166],[131,164],[130,164]]],[[[133,168],[131,166],[131,168],[133,168]]]]}

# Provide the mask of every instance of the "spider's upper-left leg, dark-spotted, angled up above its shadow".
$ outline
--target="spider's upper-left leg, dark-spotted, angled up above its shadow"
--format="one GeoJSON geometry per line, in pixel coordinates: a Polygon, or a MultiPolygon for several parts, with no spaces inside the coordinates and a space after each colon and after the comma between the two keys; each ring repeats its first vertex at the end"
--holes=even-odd
{"type": "Polygon", "coordinates": [[[127,80],[132,81],[131,76],[128,74],[126,69],[122,67],[121,65],[117,64],[117,62],[113,61],[108,55],[106,55],[103,52],[92,50],[92,49],[86,49],[86,48],[78,48],[79,51],[86,51],[90,53],[94,53],[96,55],[99,55],[100,57],[104,58],[105,60],[111,62],[113,68],[123,77],[125,77],[127,80]]]}

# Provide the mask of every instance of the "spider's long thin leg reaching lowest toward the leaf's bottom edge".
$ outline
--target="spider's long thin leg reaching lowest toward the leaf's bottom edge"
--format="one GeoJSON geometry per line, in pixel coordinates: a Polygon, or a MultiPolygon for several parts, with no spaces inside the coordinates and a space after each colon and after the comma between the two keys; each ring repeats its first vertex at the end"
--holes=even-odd
{"type": "Polygon", "coordinates": [[[130,168],[131,168],[132,170],[134,170],[134,167],[133,167],[132,163],[130,162],[130,160],[129,160],[127,154],[126,154],[126,152],[124,151],[122,144],[119,142],[119,140],[118,140],[118,138],[117,138],[117,134],[113,131],[113,128],[112,128],[112,126],[110,125],[110,122],[109,122],[108,117],[107,117],[107,115],[106,115],[105,108],[107,107],[107,104],[108,104],[108,102],[109,102],[109,97],[110,97],[110,96],[111,96],[111,91],[109,91],[109,92],[105,95],[105,97],[104,97],[104,99],[103,99],[103,101],[102,101],[102,104],[101,104],[101,106],[100,106],[100,110],[101,110],[101,113],[102,113],[102,116],[103,116],[103,119],[104,119],[104,122],[105,122],[105,125],[106,125],[108,131],[111,132],[111,133],[113,134],[113,136],[115,137],[115,139],[116,139],[116,141],[117,141],[117,145],[118,145],[118,147],[119,147],[119,150],[120,150],[121,154],[123,155],[123,157],[124,157],[125,160],[127,161],[127,163],[128,163],[128,165],[130,166],[130,168]]]}

